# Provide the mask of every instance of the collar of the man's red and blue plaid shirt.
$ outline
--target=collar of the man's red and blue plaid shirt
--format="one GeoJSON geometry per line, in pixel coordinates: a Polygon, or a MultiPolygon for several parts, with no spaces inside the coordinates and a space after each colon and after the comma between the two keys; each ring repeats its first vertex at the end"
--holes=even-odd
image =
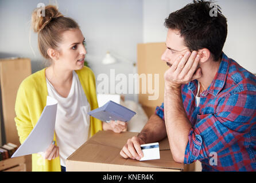
{"type": "MultiPolygon", "coordinates": [[[[212,80],[211,85],[205,90],[203,93],[201,93],[201,96],[207,96],[208,93],[212,94],[213,96],[216,96],[224,87],[228,69],[230,66],[230,61],[226,54],[222,53],[222,61],[220,61],[219,70],[216,73],[214,79],[212,80]]],[[[196,96],[197,94],[197,85],[198,81],[194,80],[188,83],[188,89],[193,92],[193,94],[196,96]]]]}

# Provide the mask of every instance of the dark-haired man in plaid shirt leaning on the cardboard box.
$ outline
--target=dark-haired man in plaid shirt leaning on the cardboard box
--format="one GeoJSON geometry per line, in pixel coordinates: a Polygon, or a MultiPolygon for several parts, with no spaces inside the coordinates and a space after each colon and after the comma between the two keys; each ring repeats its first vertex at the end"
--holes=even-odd
{"type": "Polygon", "coordinates": [[[256,170],[256,77],[222,52],[227,20],[211,10],[211,2],[194,1],[165,19],[164,103],[122,157],[139,160],[141,144],[168,136],[177,162],[199,160],[203,171],[256,170]]]}

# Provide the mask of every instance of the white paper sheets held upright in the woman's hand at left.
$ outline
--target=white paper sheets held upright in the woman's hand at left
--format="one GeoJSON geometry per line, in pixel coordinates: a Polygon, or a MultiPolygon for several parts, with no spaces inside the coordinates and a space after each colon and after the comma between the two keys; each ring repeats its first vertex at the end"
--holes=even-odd
{"type": "Polygon", "coordinates": [[[15,151],[13,156],[11,156],[12,158],[45,152],[53,141],[56,112],[57,101],[47,96],[46,106],[36,126],[34,126],[32,132],[30,132],[23,144],[15,151]]]}

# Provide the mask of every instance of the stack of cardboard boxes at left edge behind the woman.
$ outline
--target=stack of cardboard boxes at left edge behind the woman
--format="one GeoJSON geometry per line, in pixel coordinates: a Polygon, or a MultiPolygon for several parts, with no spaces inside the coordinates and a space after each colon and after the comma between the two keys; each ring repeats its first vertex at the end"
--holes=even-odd
{"type": "MultiPolygon", "coordinates": [[[[17,146],[20,146],[20,141],[14,122],[15,100],[20,83],[30,74],[31,62],[29,58],[0,59],[1,119],[3,120],[1,128],[5,132],[4,140],[17,146]]],[[[9,147],[11,144],[3,146],[2,149],[11,150],[11,147],[9,147]]],[[[10,156],[10,153],[8,155],[10,156]]],[[[30,170],[31,156],[26,156],[26,164],[28,165],[28,170],[30,170]]],[[[2,170],[25,171],[25,157],[7,158],[0,161],[0,171],[2,170]]]]}

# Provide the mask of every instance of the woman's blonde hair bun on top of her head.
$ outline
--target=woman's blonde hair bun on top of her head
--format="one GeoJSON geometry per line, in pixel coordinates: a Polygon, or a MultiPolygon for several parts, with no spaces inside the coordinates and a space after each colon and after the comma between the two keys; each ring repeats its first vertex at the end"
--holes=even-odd
{"type": "Polygon", "coordinates": [[[31,26],[35,33],[44,29],[53,18],[63,17],[56,6],[48,5],[45,9],[36,8],[32,13],[31,26]],[[42,11],[45,11],[44,13],[42,11]],[[44,15],[44,16],[43,16],[44,15]]]}

